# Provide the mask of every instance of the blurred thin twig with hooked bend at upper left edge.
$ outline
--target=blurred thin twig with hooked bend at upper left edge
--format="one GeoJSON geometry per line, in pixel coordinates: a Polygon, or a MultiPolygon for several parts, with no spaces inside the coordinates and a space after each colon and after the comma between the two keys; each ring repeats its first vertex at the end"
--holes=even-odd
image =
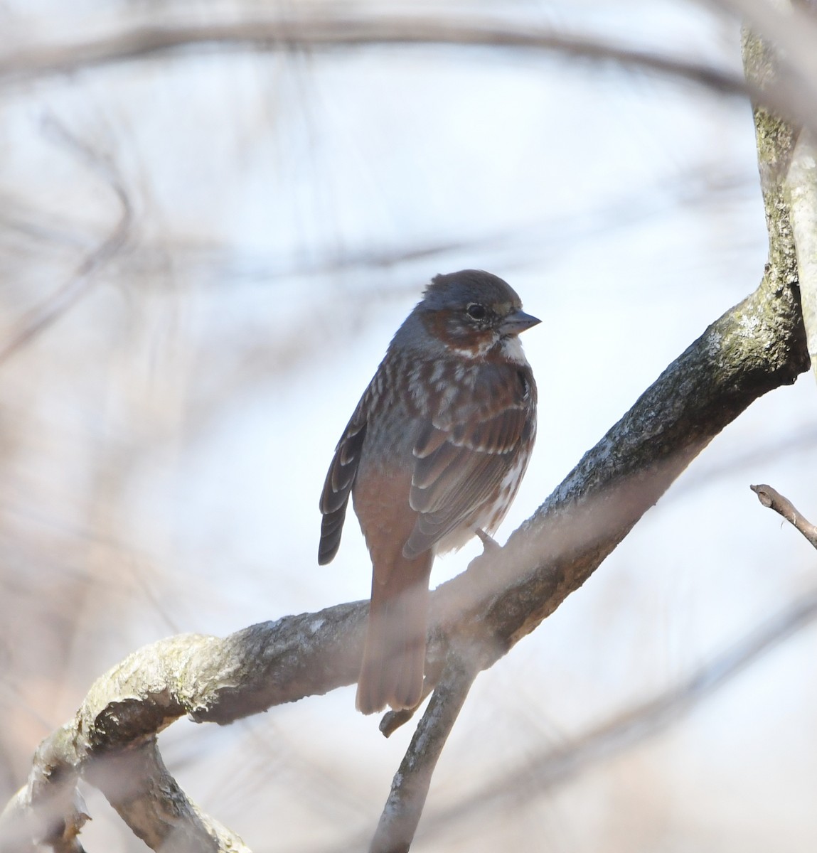
{"type": "Polygon", "coordinates": [[[82,299],[95,281],[95,276],[101,267],[125,247],[133,226],[133,206],[130,202],[130,196],[113,161],[92,148],[88,143],[73,136],[56,119],[49,119],[46,127],[57,142],[67,148],[72,155],[89,165],[113,190],[113,194],[119,202],[119,219],[111,233],[93,252],[84,258],[71,278],[55,293],[52,293],[48,299],[45,299],[41,305],[37,305],[26,316],[22,317],[17,331],[8,340],[0,343],[0,365],[14,356],[14,353],[31,343],[33,339],[63,316],[67,310],[76,305],[79,299],[82,299]]]}

